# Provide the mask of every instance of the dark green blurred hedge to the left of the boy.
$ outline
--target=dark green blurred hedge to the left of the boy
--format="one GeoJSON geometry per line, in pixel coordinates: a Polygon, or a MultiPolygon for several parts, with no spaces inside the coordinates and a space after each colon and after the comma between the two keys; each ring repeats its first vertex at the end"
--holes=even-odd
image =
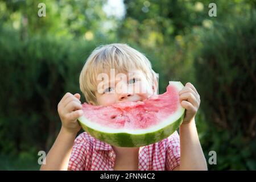
{"type": "Polygon", "coordinates": [[[1,153],[47,151],[60,129],[57,104],[65,92],[80,93],[79,74],[95,46],[51,35],[24,40],[0,27],[0,47],[1,153]]]}

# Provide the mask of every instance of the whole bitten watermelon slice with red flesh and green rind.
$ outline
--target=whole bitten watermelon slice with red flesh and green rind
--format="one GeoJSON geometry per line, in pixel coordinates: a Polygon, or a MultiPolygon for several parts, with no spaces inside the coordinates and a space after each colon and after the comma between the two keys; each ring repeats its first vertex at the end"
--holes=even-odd
{"type": "Polygon", "coordinates": [[[185,109],[180,105],[183,84],[170,81],[167,91],[138,102],[110,106],[82,104],[82,129],[103,142],[119,147],[140,147],[159,142],[177,130],[185,109]]]}

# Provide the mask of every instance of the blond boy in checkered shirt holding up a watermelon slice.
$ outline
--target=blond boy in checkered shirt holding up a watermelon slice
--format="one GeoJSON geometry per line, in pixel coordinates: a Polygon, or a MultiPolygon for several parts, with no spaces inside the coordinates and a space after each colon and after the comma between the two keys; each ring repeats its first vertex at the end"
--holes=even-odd
{"type": "MultiPolygon", "coordinates": [[[[142,53],[126,44],[109,44],[96,48],[86,60],[80,75],[80,89],[86,102],[92,105],[137,102],[156,94],[156,77],[150,61],[142,53]],[[111,77],[110,69],[114,69],[116,74],[129,75],[129,80],[111,77]],[[101,73],[110,75],[110,81],[104,82],[106,87],[99,92],[101,73]]],[[[86,132],[76,138],[81,129],[77,118],[83,114],[80,94],[65,94],[58,104],[61,130],[41,169],[207,170],[195,124],[200,96],[190,83],[179,95],[181,105],[186,109],[179,129],[180,136],[175,131],[170,137],[149,146],[117,147],[101,142],[86,132]]]]}

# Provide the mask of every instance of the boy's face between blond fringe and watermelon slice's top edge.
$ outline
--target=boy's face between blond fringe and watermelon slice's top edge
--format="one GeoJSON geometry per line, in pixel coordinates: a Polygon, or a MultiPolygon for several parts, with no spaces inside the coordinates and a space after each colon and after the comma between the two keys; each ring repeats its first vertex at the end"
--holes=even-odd
{"type": "Polygon", "coordinates": [[[109,80],[101,81],[101,89],[97,89],[98,105],[108,106],[118,102],[143,101],[155,94],[156,85],[150,84],[144,73],[134,69],[126,74],[109,76],[109,80]]]}

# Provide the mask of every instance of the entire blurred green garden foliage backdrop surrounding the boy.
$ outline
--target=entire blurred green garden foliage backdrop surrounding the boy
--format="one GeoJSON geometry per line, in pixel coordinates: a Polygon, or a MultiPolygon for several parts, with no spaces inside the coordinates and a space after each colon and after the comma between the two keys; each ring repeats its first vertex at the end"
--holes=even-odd
{"type": "MultiPolygon", "coordinates": [[[[79,73],[96,46],[128,43],[169,80],[192,82],[201,95],[196,116],[209,169],[256,169],[254,0],[125,0],[124,19],[100,1],[0,0],[0,169],[38,169],[37,152],[59,133],[57,103],[80,93],[79,73]],[[46,17],[38,17],[38,3],[46,17]],[[241,17],[241,18],[240,18],[241,17]]],[[[81,94],[81,93],[80,93],[81,94]]],[[[84,99],[82,98],[82,101],[84,99]]]]}

